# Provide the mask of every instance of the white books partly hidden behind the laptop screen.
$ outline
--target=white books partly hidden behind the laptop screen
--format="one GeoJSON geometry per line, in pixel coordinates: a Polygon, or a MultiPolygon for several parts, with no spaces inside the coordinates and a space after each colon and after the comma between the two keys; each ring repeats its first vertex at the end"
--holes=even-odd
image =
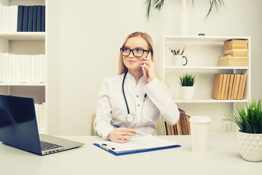
{"type": "Polygon", "coordinates": [[[45,113],[45,102],[35,103],[35,116],[37,121],[38,131],[46,131],[46,113],[45,113]]]}

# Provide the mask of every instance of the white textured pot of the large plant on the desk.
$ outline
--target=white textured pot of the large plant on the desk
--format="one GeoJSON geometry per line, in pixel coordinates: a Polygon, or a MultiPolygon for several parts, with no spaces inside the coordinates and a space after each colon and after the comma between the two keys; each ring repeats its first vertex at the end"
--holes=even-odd
{"type": "Polygon", "coordinates": [[[262,133],[237,132],[240,155],[248,161],[262,161],[262,133]]]}

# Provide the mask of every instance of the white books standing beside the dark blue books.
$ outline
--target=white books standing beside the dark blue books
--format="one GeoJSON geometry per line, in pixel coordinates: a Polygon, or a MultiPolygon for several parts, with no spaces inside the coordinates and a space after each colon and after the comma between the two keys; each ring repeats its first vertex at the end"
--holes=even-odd
{"type": "Polygon", "coordinates": [[[0,31],[17,31],[18,5],[4,6],[0,4],[0,31]]]}

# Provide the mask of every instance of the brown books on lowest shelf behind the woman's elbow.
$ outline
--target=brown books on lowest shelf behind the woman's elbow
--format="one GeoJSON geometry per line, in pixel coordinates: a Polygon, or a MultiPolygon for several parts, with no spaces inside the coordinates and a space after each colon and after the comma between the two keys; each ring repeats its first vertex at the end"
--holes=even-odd
{"type": "Polygon", "coordinates": [[[175,125],[170,125],[164,121],[164,128],[166,135],[190,135],[190,116],[186,115],[185,112],[181,109],[178,109],[180,112],[179,120],[175,125]]]}

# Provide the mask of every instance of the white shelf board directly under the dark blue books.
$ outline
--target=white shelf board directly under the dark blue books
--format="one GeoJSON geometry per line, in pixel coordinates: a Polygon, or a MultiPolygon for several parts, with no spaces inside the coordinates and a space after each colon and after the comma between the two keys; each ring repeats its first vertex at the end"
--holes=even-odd
{"type": "Polygon", "coordinates": [[[8,40],[45,40],[45,32],[0,32],[8,40]]]}

